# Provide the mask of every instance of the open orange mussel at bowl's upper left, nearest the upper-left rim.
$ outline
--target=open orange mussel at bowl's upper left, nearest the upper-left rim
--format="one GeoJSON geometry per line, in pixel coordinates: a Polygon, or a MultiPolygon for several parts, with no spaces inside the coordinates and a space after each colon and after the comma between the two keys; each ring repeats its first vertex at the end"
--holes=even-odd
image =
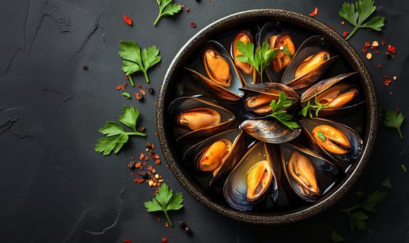
{"type": "Polygon", "coordinates": [[[218,99],[227,101],[241,99],[243,92],[239,88],[246,83],[223,45],[209,40],[200,51],[200,58],[202,69],[193,70],[186,67],[200,85],[218,99]]]}

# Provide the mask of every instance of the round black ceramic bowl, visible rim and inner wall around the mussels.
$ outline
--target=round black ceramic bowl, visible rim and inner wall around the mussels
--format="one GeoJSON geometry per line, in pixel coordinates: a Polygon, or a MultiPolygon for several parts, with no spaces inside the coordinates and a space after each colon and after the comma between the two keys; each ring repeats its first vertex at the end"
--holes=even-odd
{"type": "MultiPolygon", "coordinates": [[[[342,36],[333,31],[329,26],[317,21],[312,17],[302,15],[297,12],[277,9],[249,10],[239,12],[220,19],[209,26],[203,28],[194,35],[189,42],[177,53],[171,62],[166,76],[163,80],[159,98],[157,102],[157,131],[159,142],[170,169],[175,174],[179,183],[183,185],[196,200],[211,210],[231,217],[239,221],[246,221],[253,224],[281,224],[291,221],[298,221],[316,215],[326,210],[338,201],[362,173],[367,164],[376,139],[378,126],[376,92],[374,90],[371,77],[362,59],[355,52],[353,47],[344,40],[342,36]],[[346,173],[339,178],[337,183],[320,199],[314,203],[301,203],[299,206],[290,206],[280,210],[255,210],[240,211],[234,210],[223,199],[223,195],[217,194],[217,190],[207,190],[192,172],[182,165],[181,146],[177,144],[173,133],[174,121],[170,118],[168,108],[170,103],[177,97],[177,82],[186,75],[186,69],[190,65],[192,55],[198,53],[208,40],[220,40],[228,35],[232,30],[239,30],[242,26],[259,24],[265,22],[280,22],[287,29],[295,29],[305,36],[321,35],[332,47],[347,66],[350,72],[357,72],[357,79],[362,90],[362,97],[365,103],[360,109],[360,134],[363,141],[362,153],[348,168],[346,173]]],[[[223,186],[223,185],[222,185],[223,186]]]]}

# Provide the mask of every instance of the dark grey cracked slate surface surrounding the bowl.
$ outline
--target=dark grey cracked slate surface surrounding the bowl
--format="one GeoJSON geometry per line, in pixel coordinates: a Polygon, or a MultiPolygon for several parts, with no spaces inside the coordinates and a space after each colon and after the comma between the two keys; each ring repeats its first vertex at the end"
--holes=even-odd
{"type": "MultiPolygon", "coordinates": [[[[0,56],[0,240],[1,242],[330,242],[335,229],[346,242],[409,242],[408,129],[403,140],[396,131],[378,129],[373,156],[351,192],[315,217],[282,226],[244,224],[222,217],[195,201],[177,182],[166,162],[156,166],[168,185],[184,194],[184,209],[170,212],[176,223],[184,219],[192,229],[166,228],[161,214],[145,211],[152,190],[135,184],[127,164],[145,151],[145,142],[157,145],[154,95],[140,103],[127,100],[117,85],[125,82],[117,52],[120,40],[136,40],[141,47],[156,45],[161,63],[150,70],[150,85],[159,90],[173,56],[201,28],[220,17],[242,10],[282,8],[309,14],[339,33],[351,31],[338,16],[343,1],[179,1],[185,10],[163,17],[154,27],[155,1],[1,1],[0,56]],[[190,12],[186,12],[186,8],[190,12]],[[123,22],[134,19],[134,26],[123,22]],[[196,28],[189,23],[195,22],[196,28]],[[84,70],[83,66],[89,67],[84,70]],[[94,151],[98,129],[117,119],[124,105],[141,111],[139,126],[147,138],[132,137],[117,155],[94,151]],[[390,178],[392,188],[380,183],[390,178]],[[350,231],[339,210],[362,201],[355,192],[388,192],[378,212],[369,214],[373,233],[350,231]],[[162,221],[157,221],[161,216],[162,221]]],[[[384,39],[396,47],[393,60],[383,53],[364,59],[374,80],[379,105],[408,110],[409,4],[376,1],[377,14],[386,17],[381,33],[358,31],[350,43],[364,58],[365,41],[384,39]],[[378,69],[378,63],[383,67],[378,69]],[[398,77],[386,87],[384,75],[398,77]],[[391,94],[390,94],[391,92],[391,94]]],[[[381,49],[385,50],[385,48],[381,49]]],[[[381,51],[382,52],[382,51],[381,51]]],[[[143,76],[134,81],[147,86],[143,76]]],[[[135,88],[127,86],[128,92],[135,88]]]]}

